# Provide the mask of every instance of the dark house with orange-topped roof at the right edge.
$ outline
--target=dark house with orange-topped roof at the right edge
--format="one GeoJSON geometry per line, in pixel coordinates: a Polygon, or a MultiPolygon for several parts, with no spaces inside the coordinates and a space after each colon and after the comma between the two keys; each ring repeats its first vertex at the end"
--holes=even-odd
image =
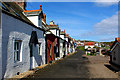
{"type": "Polygon", "coordinates": [[[111,54],[110,63],[120,66],[120,38],[116,38],[111,46],[111,54]]]}

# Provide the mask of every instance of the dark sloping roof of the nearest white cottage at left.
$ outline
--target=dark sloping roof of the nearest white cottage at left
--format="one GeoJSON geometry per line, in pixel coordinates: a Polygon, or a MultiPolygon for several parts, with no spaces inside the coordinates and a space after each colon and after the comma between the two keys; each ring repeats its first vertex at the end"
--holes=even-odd
{"type": "MultiPolygon", "coordinates": [[[[43,30],[41,28],[38,28],[35,26],[24,14],[23,9],[16,3],[16,2],[1,2],[2,3],[2,12],[13,16],[29,25],[32,25],[33,27],[43,30]]],[[[44,31],[44,30],[43,30],[44,31]]]]}

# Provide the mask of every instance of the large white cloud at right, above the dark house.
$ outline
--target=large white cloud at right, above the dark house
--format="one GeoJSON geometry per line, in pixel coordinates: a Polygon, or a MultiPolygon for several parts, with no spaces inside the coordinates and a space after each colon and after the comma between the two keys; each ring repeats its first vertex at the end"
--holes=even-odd
{"type": "Polygon", "coordinates": [[[118,14],[103,19],[93,26],[93,30],[81,36],[85,37],[98,37],[99,40],[115,38],[118,36],[118,14]]]}

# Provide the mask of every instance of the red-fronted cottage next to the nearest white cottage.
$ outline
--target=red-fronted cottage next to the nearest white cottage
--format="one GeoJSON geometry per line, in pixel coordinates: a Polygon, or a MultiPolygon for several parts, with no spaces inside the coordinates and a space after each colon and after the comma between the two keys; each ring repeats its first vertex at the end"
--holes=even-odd
{"type": "Polygon", "coordinates": [[[56,36],[48,31],[46,33],[46,63],[52,63],[56,58],[56,47],[57,47],[56,36]]]}

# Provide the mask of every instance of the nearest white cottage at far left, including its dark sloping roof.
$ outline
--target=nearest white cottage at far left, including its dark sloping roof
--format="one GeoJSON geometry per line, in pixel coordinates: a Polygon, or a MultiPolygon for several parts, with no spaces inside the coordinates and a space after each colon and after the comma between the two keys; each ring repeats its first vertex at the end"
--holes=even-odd
{"type": "MultiPolygon", "coordinates": [[[[1,2],[0,79],[45,64],[44,30],[35,26],[15,2],[1,2]]],[[[42,18],[42,12],[39,17],[42,18]]]]}

